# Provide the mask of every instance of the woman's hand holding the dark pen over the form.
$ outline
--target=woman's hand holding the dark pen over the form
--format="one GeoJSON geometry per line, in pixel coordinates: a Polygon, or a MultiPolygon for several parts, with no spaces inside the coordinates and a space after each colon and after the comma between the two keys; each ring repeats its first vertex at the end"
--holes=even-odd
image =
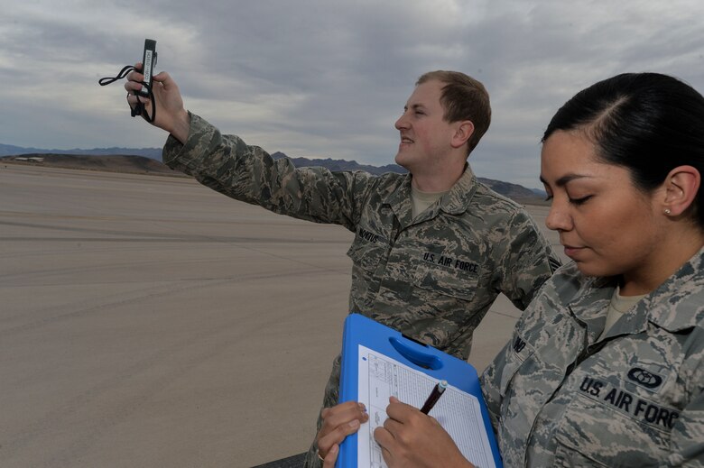
{"type": "Polygon", "coordinates": [[[474,467],[435,418],[391,397],[384,427],[374,431],[384,461],[394,467],[474,467]]]}

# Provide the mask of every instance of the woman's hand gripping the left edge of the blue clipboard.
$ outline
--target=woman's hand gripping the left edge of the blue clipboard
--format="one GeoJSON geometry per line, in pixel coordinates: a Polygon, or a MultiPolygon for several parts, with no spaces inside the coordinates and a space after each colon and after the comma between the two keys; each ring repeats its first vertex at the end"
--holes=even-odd
{"type": "Polygon", "coordinates": [[[332,408],[323,408],[323,418],[318,433],[318,454],[324,459],[323,467],[332,468],[338,460],[339,445],[345,437],[354,434],[359,426],[369,420],[366,408],[357,401],[346,401],[332,408]]]}

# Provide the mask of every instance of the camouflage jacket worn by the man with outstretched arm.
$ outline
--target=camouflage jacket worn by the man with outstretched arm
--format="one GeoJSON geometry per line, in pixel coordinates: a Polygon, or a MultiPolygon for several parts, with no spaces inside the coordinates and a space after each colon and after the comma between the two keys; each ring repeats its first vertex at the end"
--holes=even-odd
{"type": "Polygon", "coordinates": [[[163,161],[228,197],[275,213],[343,225],[355,239],[349,310],[461,359],[499,293],[525,308],[559,265],[533,219],[467,169],[450,192],[411,215],[411,176],[331,172],[274,161],[191,115],[185,145],[163,161]]]}

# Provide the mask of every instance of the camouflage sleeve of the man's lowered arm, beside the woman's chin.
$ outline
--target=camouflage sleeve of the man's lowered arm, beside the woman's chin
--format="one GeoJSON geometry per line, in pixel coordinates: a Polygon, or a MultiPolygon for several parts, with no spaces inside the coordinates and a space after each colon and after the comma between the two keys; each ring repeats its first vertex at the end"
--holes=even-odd
{"type": "Polygon", "coordinates": [[[495,287],[521,310],[560,267],[560,258],[523,209],[508,223],[496,252],[502,253],[494,273],[495,287]]]}

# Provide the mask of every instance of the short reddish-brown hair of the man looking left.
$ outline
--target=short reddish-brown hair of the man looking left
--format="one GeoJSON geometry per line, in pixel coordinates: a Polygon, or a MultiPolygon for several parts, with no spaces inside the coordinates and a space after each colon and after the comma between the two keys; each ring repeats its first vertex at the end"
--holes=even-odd
{"type": "Polygon", "coordinates": [[[474,124],[474,133],[467,142],[469,154],[491,124],[491,104],[486,87],[464,73],[448,70],[424,73],[415,85],[421,85],[431,79],[444,83],[440,104],[445,109],[445,120],[449,123],[470,120],[474,124]]]}

